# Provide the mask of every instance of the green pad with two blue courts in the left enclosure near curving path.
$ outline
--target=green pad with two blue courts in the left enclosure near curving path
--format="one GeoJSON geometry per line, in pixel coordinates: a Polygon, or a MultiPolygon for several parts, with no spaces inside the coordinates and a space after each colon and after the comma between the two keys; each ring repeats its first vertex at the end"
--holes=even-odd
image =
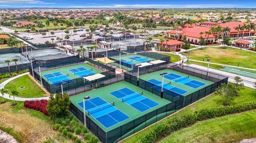
{"type": "Polygon", "coordinates": [[[101,73],[101,72],[102,71],[95,69],[93,66],[86,63],[65,66],[62,68],[57,68],[57,69],[52,69],[47,71],[42,71],[41,69],[42,78],[44,78],[50,84],[53,83],[54,85],[59,85],[58,83],[61,83],[63,81],[72,82],[74,79],[86,77],[88,76],[88,74],[92,75],[92,74],[101,73]]]}

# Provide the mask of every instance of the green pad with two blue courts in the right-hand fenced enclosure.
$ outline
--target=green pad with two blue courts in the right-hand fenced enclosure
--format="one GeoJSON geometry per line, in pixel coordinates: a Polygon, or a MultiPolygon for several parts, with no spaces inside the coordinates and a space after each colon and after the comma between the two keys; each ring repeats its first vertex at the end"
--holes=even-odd
{"type": "MultiPolygon", "coordinates": [[[[162,75],[160,73],[166,72],[164,75],[164,88],[163,90],[171,90],[183,96],[189,95],[197,90],[213,84],[214,82],[194,77],[185,73],[165,69],[161,71],[152,72],[149,74],[141,75],[140,79],[153,83],[154,88],[158,91],[162,90],[162,75]]],[[[151,84],[148,86],[152,86],[151,84]]]]}

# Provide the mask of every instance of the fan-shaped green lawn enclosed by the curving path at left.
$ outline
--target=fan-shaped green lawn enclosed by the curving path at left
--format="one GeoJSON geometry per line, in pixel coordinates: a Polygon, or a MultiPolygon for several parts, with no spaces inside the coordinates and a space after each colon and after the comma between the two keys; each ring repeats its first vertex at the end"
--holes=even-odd
{"type": "Polygon", "coordinates": [[[19,97],[45,97],[45,92],[31,79],[28,75],[23,75],[17,79],[5,85],[5,88],[9,90],[15,89],[19,92],[19,97]],[[25,86],[25,89],[20,89],[19,87],[25,86]]]}

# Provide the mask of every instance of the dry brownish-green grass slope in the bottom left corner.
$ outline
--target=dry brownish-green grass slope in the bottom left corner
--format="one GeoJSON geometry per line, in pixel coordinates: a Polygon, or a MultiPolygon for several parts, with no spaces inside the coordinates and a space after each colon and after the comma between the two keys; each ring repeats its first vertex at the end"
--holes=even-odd
{"type": "Polygon", "coordinates": [[[73,142],[54,130],[53,121],[43,113],[23,107],[23,102],[11,106],[12,101],[0,104],[0,129],[19,142],[73,142]]]}

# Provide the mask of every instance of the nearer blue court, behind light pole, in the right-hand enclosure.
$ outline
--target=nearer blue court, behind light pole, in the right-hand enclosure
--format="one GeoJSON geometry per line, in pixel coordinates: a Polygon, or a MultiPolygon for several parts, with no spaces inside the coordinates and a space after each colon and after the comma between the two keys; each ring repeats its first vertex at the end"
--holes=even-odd
{"type": "MultiPolygon", "coordinates": [[[[150,79],[150,80],[148,80],[148,82],[153,83],[154,85],[156,85],[154,87],[154,89],[156,89],[160,92],[162,91],[162,81],[159,81],[159,80],[156,80],[156,79],[150,79]]],[[[163,91],[165,91],[165,90],[170,90],[170,91],[173,91],[173,92],[175,92],[177,94],[180,94],[180,95],[185,94],[186,92],[188,92],[186,90],[180,89],[178,87],[174,87],[174,86],[169,85],[167,83],[164,83],[163,91]]]]}

